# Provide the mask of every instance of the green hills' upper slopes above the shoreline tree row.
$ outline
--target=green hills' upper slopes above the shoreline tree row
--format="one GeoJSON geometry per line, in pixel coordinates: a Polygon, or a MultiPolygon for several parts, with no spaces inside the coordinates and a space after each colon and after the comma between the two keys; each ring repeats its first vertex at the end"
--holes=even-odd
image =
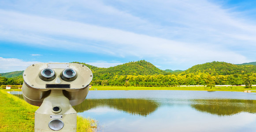
{"type": "MultiPolygon", "coordinates": [[[[250,74],[256,73],[256,62],[231,64],[227,62],[208,62],[192,66],[188,70],[160,70],[152,63],[145,60],[137,62],[128,62],[122,65],[113,66],[109,68],[99,68],[96,66],[88,65],[82,62],[79,63],[87,66],[93,72],[93,80],[108,80],[116,75],[158,75],[158,74],[179,74],[179,73],[210,73],[213,75],[231,75],[231,74],[250,74]]],[[[0,73],[1,77],[16,78],[22,76],[24,71],[14,71],[8,73],[0,73]]],[[[20,78],[20,77],[19,77],[20,78]]]]}

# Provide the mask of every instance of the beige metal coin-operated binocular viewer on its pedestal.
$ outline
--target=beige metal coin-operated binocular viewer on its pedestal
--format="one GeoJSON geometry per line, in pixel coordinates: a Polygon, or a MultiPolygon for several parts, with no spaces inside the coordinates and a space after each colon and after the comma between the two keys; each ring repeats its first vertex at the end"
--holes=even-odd
{"type": "Polygon", "coordinates": [[[76,132],[77,112],[93,79],[91,70],[77,63],[36,63],[23,73],[23,98],[40,106],[35,112],[35,132],[76,132]]]}

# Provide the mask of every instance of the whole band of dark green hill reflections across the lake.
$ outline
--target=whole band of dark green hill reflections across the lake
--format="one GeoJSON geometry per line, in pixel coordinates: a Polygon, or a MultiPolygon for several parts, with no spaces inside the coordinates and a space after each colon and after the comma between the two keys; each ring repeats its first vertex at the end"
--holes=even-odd
{"type": "MultiPolygon", "coordinates": [[[[21,92],[11,92],[23,99],[21,92]]],[[[248,99],[85,99],[73,106],[78,113],[93,108],[108,106],[125,111],[131,115],[148,116],[161,106],[172,107],[174,104],[189,105],[197,111],[218,116],[231,116],[241,112],[256,113],[256,100],[248,99]],[[171,105],[170,105],[171,104],[171,105]]]]}

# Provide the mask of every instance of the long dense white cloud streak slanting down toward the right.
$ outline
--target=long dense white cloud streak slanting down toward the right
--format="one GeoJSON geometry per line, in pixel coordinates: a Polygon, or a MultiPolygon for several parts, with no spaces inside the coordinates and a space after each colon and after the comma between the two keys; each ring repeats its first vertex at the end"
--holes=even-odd
{"type": "Polygon", "coordinates": [[[176,57],[180,58],[183,62],[209,59],[234,63],[248,61],[245,56],[239,55],[233,51],[227,49],[220,50],[222,49],[221,46],[184,43],[119,29],[110,29],[53,18],[43,18],[10,11],[0,10],[0,16],[5,20],[0,23],[6,27],[10,27],[7,33],[3,29],[0,30],[2,39],[4,37],[5,39],[9,38],[9,40],[12,40],[12,38],[16,36],[17,41],[29,41],[31,44],[37,43],[55,48],[102,52],[123,57],[127,55],[156,58],[166,57],[169,58],[169,61],[176,57]],[[30,22],[28,23],[27,20],[30,20],[30,22]],[[19,33],[18,30],[23,30],[23,32],[19,33]],[[30,34],[37,34],[39,36],[30,36],[30,34]],[[57,40],[56,38],[49,37],[50,35],[73,37],[74,39],[81,40],[98,40],[103,43],[74,43],[74,40],[57,40]],[[70,48],[70,44],[72,44],[72,48],[70,48]]]}

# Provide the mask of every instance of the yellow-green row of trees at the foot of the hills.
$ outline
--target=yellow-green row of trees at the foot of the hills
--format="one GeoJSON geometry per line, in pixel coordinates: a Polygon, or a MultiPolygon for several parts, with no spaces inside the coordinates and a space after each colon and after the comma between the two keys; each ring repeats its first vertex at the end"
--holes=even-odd
{"type": "Polygon", "coordinates": [[[93,80],[92,85],[169,87],[181,85],[241,85],[256,84],[256,73],[211,75],[209,73],[180,73],[170,75],[116,75],[108,80],[93,80]]]}

